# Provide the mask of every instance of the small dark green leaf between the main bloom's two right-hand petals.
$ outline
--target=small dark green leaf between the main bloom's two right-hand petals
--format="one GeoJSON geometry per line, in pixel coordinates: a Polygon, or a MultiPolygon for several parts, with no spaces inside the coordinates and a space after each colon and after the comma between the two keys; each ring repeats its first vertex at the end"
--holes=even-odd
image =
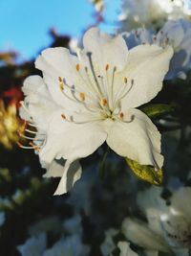
{"type": "Polygon", "coordinates": [[[169,114],[175,110],[175,105],[152,104],[141,107],[143,111],[150,118],[158,117],[162,114],[169,114]]]}

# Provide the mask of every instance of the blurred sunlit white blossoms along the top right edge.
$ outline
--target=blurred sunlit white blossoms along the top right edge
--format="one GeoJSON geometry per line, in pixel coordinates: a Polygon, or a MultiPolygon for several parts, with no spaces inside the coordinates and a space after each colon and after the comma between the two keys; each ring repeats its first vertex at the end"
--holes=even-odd
{"type": "Polygon", "coordinates": [[[168,20],[189,19],[189,0],[123,0],[119,15],[120,29],[129,31],[140,26],[158,29],[168,20]]]}

